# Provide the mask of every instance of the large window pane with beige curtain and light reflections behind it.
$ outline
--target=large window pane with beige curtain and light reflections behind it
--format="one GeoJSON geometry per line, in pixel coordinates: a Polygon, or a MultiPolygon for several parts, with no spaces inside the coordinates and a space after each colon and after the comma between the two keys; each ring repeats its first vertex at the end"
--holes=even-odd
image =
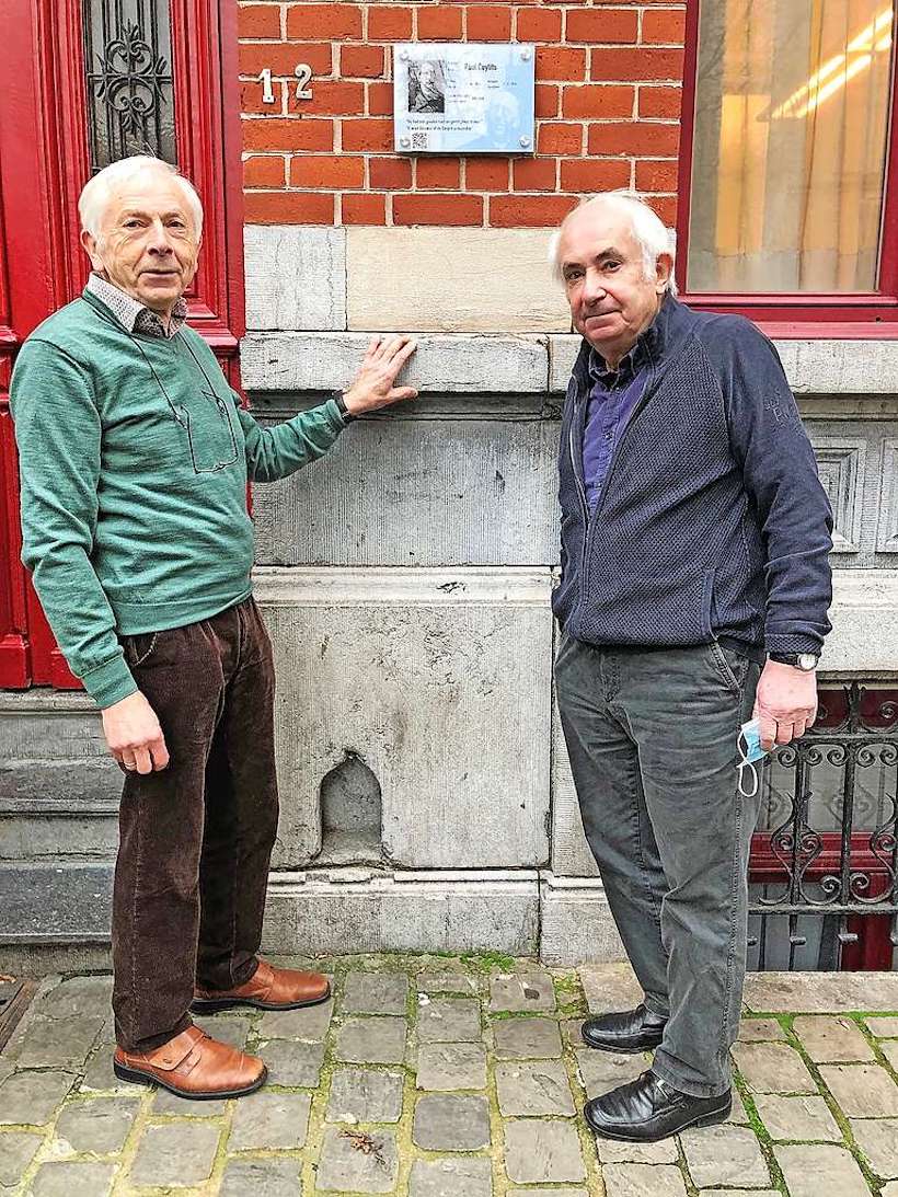
{"type": "Polygon", "coordinates": [[[875,291],[892,0],[702,0],[691,291],[875,291]]]}

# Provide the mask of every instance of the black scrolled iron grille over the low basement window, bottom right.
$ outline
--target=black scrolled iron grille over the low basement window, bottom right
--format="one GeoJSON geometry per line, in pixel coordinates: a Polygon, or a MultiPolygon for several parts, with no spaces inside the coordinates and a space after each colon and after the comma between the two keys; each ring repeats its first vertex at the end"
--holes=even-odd
{"type": "Polygon", "coordinates": [[[897,782],[898,695],[857,682],[821,691],[812,731],[764,766],[750,874],[751,965],[843,967],[844,949],[880,916],[879,964],[891,966],[897,782]]]}

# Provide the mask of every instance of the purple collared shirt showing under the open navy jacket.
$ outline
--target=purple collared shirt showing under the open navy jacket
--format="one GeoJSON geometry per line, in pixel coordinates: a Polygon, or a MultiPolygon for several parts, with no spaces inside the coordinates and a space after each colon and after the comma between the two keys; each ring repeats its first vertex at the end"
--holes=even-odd
{"type": "Polygon", "coordinates": [[[629,353],[618,370],[608,370],[595,350],[590,354],[593,389],[583,427],[583,485],[590,511],[608,474],[614,446],[643,393],[645,375],[645,356],[638,350],[629,353]]]}

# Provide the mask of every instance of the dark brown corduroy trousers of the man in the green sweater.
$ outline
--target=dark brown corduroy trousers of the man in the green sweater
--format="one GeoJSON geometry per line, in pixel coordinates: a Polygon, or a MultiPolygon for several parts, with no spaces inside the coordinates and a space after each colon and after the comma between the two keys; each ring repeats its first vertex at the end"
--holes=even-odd
{"type": "Polygon", "coordinates": [[[125,778],[113,895],[119,1044],[190,1026],[194,985],[257,967],[278,825],[272,648],[251,598],[186,627],[122,637],[168,768],[125,778]]]}

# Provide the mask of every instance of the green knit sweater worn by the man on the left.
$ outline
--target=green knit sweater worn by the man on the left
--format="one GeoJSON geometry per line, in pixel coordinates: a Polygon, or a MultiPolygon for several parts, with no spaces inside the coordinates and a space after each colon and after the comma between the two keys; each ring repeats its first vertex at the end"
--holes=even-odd
{"type": "Polygon", "coordinates": [[[196,333],[128,333],[89,292],[25,341],[11,403],[22,559],[99,706],[136,689],[117,633],[193,624],[250,594],[247,479],[291,474],[344,427],[333,400],[260,427],[196,333]]]}

